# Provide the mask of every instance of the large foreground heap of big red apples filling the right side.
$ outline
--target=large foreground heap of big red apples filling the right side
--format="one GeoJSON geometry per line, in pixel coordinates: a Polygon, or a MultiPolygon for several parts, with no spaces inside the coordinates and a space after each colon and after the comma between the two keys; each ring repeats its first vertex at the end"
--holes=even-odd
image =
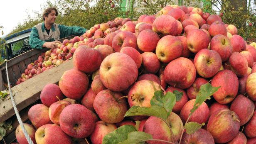
{"type": "MultiPolygon", "coordinates": [[[[82,37],[74,69],[64,72],[59,85],[45,85],[42,104],[28,112],[34,143],[101,144],[106,134],[135,120],[141,121],[139,131],[169,142],[256,143],[256,45],[219,15],[168,5],[138,21],[118,17],[96,24],[82,37]],[[180,139],[205,83],[220,88],[189,119],[205,126],[180,139]],[[183,93],[168,117],[174,137],[157,117],[124,117],[129,107],[150,107],[156,90],[183,93]]],[[[25,144],[20,127],[16,138],[25,144]]]]}

